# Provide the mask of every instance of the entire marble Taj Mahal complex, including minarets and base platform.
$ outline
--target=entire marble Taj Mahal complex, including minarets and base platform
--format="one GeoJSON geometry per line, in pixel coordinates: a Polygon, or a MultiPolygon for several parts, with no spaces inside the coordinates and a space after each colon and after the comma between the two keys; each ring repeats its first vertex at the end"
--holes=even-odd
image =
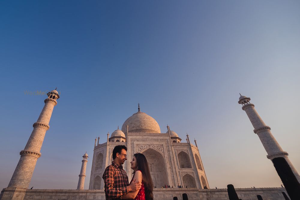
{"type": "MultiPolygon", "coordinates": [[[[191,142],[189,135],[182,139],[171,130],[160,127],[158,122],[142,112],[138,104],[137,112],[129,116],[121,128],[117,127],[112,134],[107,134],[107,141],[100,144],[100,138],[95,139],[94,153],[91,159],[90,182],[85,183],[85,171],[88,154],[82,157],[81,170],[77,188],[70,190],[61,189],[29,189],[29,184],[38,158],[41,157],[41,147],[46,131],[49,129],[49,121],[53,108],[60,98],[57,90],[47,93],[45,105],[33,124],[33,131],[23,150],[20,151],[20,160],[16,166],[7,188],[1,191],[1,200],[28,200],[28,199],[105,199],[104,181],[102,179],[105,168],[113,161],[112,153],[116,145],[125,145],[128,149],[128,160],[132,160],[134,153],[142,153],[148,160],[151,177],[155,188],[154,199],[172,200],[183,199],[182,194],[187,194],[188,199],[227,200],[226,189],[211,189],[209,177],[206,177],[205,168],[201,160],[196,139],[191,142]],[[84,184],[89,185],[88,190],[83,190],[84,184]],[[164,188],[164,186],[170,186],[164,188]],[[178,187],[178,186],[182,187],[178,187]]],[[[254,133],[258,135],[266,152],[267,158],[284,158],[289,164],[292,173],[300,182],[300,176],[288,158],[288,153],[283,151],[271,133],[271,128],[265,125],[263,120],[250,103],[250,98],[240,96],[238,104],[241,104],[254,127],[254,133]]],[[[143,110],[144,111],[144,110],[143,110]]],[[[130,114],[128,114],[130,115],[130,114]]],[[[115,129],[115,128],[114,128],[115,129]]],[[[92,148],[92,147],[91,147],[92,148]]],[[[272,167],[272,166],[270,166],[272,167]]],[[[132,170],[129,162],[123,166],[129,180],[132,178],[132,170]]],[[[75,176],[75,175],[74,175],[75,176]]],[[[77,176],[77,175],[76,175],[77,176]]],[[[75,185],[75,184],[74,184],[75,185]]],[[[260,195],[264,200],[285,199],[285,188],[239,188],[236,189],[238,198],[254,200],[260,195]]]]}

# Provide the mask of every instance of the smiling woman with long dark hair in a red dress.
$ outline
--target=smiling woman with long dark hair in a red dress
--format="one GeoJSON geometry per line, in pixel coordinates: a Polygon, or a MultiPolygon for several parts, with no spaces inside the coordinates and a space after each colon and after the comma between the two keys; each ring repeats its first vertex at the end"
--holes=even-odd
{"type": "Polygon", "coordinates": [[[153,183],[146,157],[140,153],[134,154],[130,163],[134,170],[132,180],[142,181],[142,187],[139,191],[122,196],[122,199],[153,200],[153,183]]]}

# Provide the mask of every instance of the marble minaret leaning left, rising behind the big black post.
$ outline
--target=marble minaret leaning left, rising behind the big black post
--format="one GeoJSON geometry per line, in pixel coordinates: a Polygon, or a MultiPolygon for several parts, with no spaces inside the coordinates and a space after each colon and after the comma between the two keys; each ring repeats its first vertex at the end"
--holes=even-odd
{"type": "Polygon", "coordinates": [[[265,122],[262,121],[259,114],[256,112],[254,104],[250,103],[250,98],[246,96],[240,96],[238,103],[243,105],[242,109],[247,113],[250,122],[254,127],[254,133],[258,135],[263,147],[268,153],[267,158],[273,160],[277,157],[283,157],[289,164],[295,177],[300,182],[300,176],[288,158],[289,154],[286,151],[283,151],[283,149],[280,147],[270,131],[271,128],[265,125],[265,122]]]}

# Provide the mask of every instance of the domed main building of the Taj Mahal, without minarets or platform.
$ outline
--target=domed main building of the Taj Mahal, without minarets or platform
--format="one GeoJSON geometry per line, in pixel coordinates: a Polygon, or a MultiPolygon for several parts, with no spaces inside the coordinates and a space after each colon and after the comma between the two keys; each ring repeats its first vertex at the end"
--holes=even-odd
{"type": "MultiPolygon", "coordinates": [[[[89,189],[103,189],[102,174],[113,161],[113,148],[116,145],[127,146],[128,160],[132,160],[135,153],[146,156],[156,187],[183,185],[188,188],[209,188],[196,140],[195,145],[191,144],[187,135],[186,141],[182,142],[169,126],[167,132],[161,132],[156,120],[141,112],[138,105],[138,112],[125,120],[121,130],[118,127],[111,135],[107,134],[106,143],[96,144],[95,140],[89,189]]],[[[124,165],[131,179],[130,163],[124,165]]]]}

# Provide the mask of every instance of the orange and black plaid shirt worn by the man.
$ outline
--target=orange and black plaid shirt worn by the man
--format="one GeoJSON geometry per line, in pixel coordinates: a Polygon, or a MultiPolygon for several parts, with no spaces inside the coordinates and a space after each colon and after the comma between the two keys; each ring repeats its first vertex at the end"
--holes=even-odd
{"type": "Polygon", "coordinates": [[[114,161],[108,166],[102,176],[104,180],[105,197],[110,199],[121,199],[127,193],[128,176],[122,165],[114,161]]]}

